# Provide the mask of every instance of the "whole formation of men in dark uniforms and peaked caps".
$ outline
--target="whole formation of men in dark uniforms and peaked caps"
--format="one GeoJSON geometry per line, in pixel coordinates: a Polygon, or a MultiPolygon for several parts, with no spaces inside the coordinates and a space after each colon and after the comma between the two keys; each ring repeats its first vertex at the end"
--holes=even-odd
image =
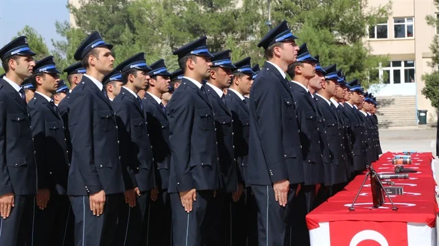
{"type": "MultiPolygon", "coordinates": [[[[3,47],[0,56],[8,69],[0,80],[0,99],[8,108],[2,110],[9,116],[5,121],[21,122],[12,125],[23,136],[19,144],[27,144],[21,156],[33,149],[29,143],[34,140],[38,177],[32,179],[36,166],[30,155],[15,167],[14,160],[4,163],[1,225],[14,226],[0,229],[0,245],[21,245],[23,239],[36,245],[73,243],[67,233],[73,232],[69,206],[75,214],[75,245],[169,245],[171,214],[174,245],[290,245],[293,234],[300,245],[309,244],[302,234],[307,234],[306,225],[292,221],[304,222],[316,199],[323,201],[340,190],[351,173],[376,160],[377,151],[369,153],[379,140],[376,121],[368,114],[376,105],[371,95],[363,97],[357,81],[347,84],[335,65],[316,66],[318,59],[306,45],[298,49],[294,38],[283,22],[261,41],[268,62],[261,72],[265,79],[256,81],[267,87],[254,88],[250,101],[244,97],[256,77],[250,58],[233,64],[230,51],[211,55],[206,38],[177,49],[174,54],[185,76],[174,74],[182,80],[166,108],[172,75],[163,60],[147,66],[145,54],[139,53],[112,70],[112,45],[97,32],[75,53],[81,64],[66,69],[75,87],[68,93],[67,86],[58,85],[60,71],[52,57],[32,64],[34,53],[24,37],[3,47]],[[284,69],[292,82],[285,79],[284,69]],[[14,84],[29,73],[36,89],[28,103],[30,118],[8,101],[23,104],[23,90],[14,84]],[[279,85],[289,94],[279,93],[279,85]],[[259,99],[253,97],[255,90],[259,99]],[[69,94],[59,109],[51,99],[58,93],[69,94]],[[342,101],[357,105],[362,113],[338,104],[342,101]],[[16,173],[30,178],[17,180],[16,173]],[[285,180],[286,191],[277,185],[285,180]],[[316,184],[324,184],[322,195],[316,195],[316,184]],[[296,193],[302,199],[292,203],[296,193]],[[127,206],[120,206],[123,197],[127,206]],[[293,210],[300,212],[286,212],[293,210]],[[32,223],[17,221],[23,215],[33,217],[32,223]],[[20,230],[29,231],[29,237],[17,238],[20,230]]],[[[5,135],[5,140],[14,137],[5,135]]],[[[3,154],[12,158],[8,151],[3,154]]]]}

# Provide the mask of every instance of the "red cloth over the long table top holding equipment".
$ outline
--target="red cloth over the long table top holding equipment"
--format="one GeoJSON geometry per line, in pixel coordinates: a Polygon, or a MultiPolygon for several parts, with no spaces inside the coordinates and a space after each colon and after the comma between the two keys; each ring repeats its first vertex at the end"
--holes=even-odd
{"type": "MultiPolygon", "coordinates": [[[[372,164],[377,173],[394,173],[392,158],[394,155],[403,153],[383,153],[383,155],[372,164]]],[[[431,153],[412,154],[412,164],[405,165],[410,169],[416,169],[418,173],[409,173],[410,179],[392,180],[395,186],[404,187],[404,195],[391,196],[392,201],[399,208],[392,210],[392,204],[385,198],[385,204],[380,208],[372,208],[372,197],[370,194],[370,179],[366,181],[355,202],[355,211],[349,211],[355,195],[364,180],[366,172],[357,175],[344,190],[325,201],[318,208],[307,214],[308,230],[319,227],[318,223],[333,221],[375,221],[375,222],[412,222],[426,223],[429,227],[436,226],[436,214],[439,212],[436,202],[436,182],[431,170],[431,153]]],[[[386,186],[386,185],[384,185],[386,186]]],[[[344,223],[342,226],[347,226],[344,223]]],[[[331,223],[331,227],[337,223],[331,223]]],[[[331,230],[333,232],[333,230],[331,230]]]]}

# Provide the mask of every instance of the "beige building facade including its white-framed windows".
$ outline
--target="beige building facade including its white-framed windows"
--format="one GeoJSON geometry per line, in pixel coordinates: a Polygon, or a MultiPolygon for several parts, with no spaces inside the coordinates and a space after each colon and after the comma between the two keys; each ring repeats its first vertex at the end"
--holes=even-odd
{"type": "MultiPolygon", "coordinates": [[[[387,3],[388,0],[368,1],[368,5],[375,8],[387,3]]],[[[388,20],[370,27],[366,39],[372,54],[389,59],[388,64],[380,66],[381,84],[371,86],[370,90],[377,97],[414,97],[416,110],[428,110],[428,122],[436,121],[437,112],[421,93],[425,87],[421,77],[432,72],[427,64],[432,56],[429,45],[438,32],[427,25],[425,17],[437,16],[438,12],[433,0],[392,0],[388,20]]]]}

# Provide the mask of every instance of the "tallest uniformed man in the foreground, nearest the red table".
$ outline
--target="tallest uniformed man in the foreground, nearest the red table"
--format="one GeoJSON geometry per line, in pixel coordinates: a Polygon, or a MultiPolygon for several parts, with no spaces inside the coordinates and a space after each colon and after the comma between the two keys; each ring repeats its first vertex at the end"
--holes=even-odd
{"type": "Polygon", "coordinates": [[[259,208],[259,245],[284,245],[290,238],[292,199],[304,181],[295,103],[285,79],[296,62],[296,38],[282,21],[258,44],[268,61],[250,93],[248,183],[259,208]]]}

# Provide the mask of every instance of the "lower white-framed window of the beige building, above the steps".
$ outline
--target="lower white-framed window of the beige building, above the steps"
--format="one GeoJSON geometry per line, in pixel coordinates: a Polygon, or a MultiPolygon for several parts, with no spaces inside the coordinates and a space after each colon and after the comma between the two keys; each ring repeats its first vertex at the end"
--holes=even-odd
{"type": "Polygon", "coordinates": [[[380,77],[383,84],[414,83],[414,61],[392,61],[381,68],[380,77]]]}

